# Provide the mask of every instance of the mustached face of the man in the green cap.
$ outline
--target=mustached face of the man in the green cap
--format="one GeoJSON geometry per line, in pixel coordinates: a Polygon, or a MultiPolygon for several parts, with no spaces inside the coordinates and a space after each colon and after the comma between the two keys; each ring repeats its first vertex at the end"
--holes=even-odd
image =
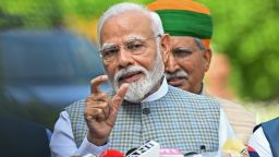
{"type": "Polygon", "coordinates": [[[199,94],[210,58],[210,50],[201,50],[193,37],[171,37],[171,53],[165,69],[168,83],[199,94]]]}

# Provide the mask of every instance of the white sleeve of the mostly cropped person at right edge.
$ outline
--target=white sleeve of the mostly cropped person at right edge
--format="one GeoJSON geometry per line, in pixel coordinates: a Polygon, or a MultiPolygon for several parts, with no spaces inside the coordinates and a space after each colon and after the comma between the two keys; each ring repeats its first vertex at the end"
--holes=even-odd
{"type": "Polygon", "coordinates": [[[253,147],[260,157],[272,157],[270,145],[264,134],[264,131],[258,128],[248,141],[248,145],[253,147]]]}

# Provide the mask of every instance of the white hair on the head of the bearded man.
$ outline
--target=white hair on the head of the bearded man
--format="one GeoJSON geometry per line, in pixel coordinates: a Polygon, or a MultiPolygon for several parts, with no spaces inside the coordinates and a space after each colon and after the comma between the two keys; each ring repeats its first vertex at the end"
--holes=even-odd
{"type": "Polygon", "coordinates": [[[151,31],[155,35],[163,34],[161,20],[157,13],[147,10],[144,5],[141,5],[137,3],[123,2],[123,3],[112,5],[100,17],[99,23],[98,23],[98,41],[99,41],[99,44],[100,44],[100,32],[104,26],[104,23],[112,16],[123,14],[125,12],[131,12],[131,11],[142,12],[143,14],[147,15],[151,21],[151,31]]]}

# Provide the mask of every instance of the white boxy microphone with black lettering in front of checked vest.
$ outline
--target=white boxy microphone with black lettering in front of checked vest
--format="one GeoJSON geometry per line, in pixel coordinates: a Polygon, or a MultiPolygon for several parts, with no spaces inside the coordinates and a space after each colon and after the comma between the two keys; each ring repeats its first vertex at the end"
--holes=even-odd
{"type": "Polygon", "coordinates": [[[148,141],[134,150],[130,149],[128,154],[129,155],[126,157],[159,157],[160,145],[155,141],[148,141]]]}

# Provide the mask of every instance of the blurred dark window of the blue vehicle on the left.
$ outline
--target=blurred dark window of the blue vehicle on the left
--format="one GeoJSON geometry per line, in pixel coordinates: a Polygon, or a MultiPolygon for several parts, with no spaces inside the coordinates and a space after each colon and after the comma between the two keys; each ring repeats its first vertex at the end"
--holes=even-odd
{"type": "Polygon", "coordinates": [[[1,36],[5,80],[90,78],[104,73],[97,48],[87,39],[64,33],[1,36]]]}

